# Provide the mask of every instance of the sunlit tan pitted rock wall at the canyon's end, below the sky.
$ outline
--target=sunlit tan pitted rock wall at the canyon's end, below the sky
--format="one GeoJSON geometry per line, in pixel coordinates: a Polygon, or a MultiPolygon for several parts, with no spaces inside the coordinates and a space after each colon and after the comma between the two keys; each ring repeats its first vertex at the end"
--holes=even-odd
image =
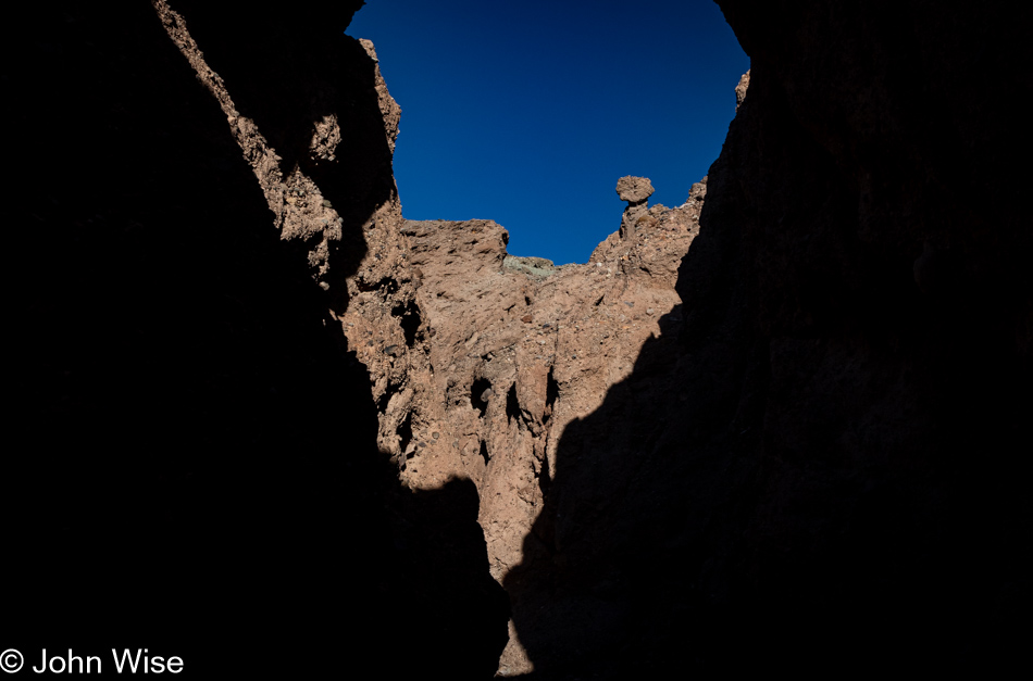
{"type": "MultiPolygon", "coordinates": [[[[490,220],[406,222],[420,352],[360,320],[376,318],[368,308],[390,314],[382,290],[354,297],[345,331],[371,370],[381,449],[410,488],[476,484],[500,582],[528,558],[563,430],[627,379],[645,343],[673,349],[674,282],[700,205],[654,206],[631,240],[613,234],[587,264],[561,267],[508,255],[508,234],[490,220]]],[[[515,636],[501,667],[531,669],[515,636]]]]}

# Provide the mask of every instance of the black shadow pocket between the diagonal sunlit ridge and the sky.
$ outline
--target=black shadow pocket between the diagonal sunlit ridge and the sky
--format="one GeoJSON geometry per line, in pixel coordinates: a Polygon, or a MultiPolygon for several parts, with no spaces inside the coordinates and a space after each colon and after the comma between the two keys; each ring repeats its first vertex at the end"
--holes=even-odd
{"type": "MultiPolygon", "coordinates": [[[[366,252],[362,226],[395,193],[373,60],[358,40],[340,34],[362,3],[313,0],[290,11],[246,12],[232,3],[171,4],[187,17],[240,115],[254,121],[279,154],[284,176],[297,168],[336,209],[343,237],[332,247],[327,282],[332,295],[347,295],[345,279],[366,252]],[[334,23],[335,16],[341,21],[334,23]],[[336,157],[312,152],[316,125],[331,119],[341,130],[336,157]]],[[[331,302],[344,314],[347,300],[331,302]]]]}

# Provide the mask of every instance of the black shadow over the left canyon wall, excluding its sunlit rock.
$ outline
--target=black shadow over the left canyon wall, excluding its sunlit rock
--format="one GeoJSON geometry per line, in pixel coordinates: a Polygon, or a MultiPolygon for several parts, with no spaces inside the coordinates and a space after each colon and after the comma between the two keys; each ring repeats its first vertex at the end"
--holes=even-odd
{"type": "MultiPolygon", "coordinates": [[[[153,9],[126,4],[48,5],[0,74],[23,164],[9,223],[20,262],[5,272],[18,329],[5,427],[21,443],[5,456],[7,577],[18,584],[5,644],[105,665],[112,647],[147,647],[194,678],[491,666],[440,653],[457,631],[490,650],[471,629],[494,639],[493,622],[505,627],[474,541],[476,495],[453,484],[402,499],[376,447],[369,377],[303,252],[281,241],[225,116],[153,9]],[[409,529],[428,509],[436,533],[409,529]],[[410,654],[405,639],[432,621],[448,623],[423,638],[435,657],[410,654]]],[[[204,25],[206,8],[189,7],[191,27],[204,25]]],[[[312,66],[289,34],[263,48],[312,66]]],[[[198,39],[220,52],[214,34],[198,39]]],[[[294,77],[341,78],[326,111],[354,98],[366,121],[372,62],[328,49],[331,73],[294,77]]],[[[231,88],[277,75],[242,58],[225,68],[231,88]]],[[[266,114],[260,92],[240,97],[279,149],[323,113],[266,114]]],[[[365,252],[358,216],[390,191],[377,125],[366,136],[356,123],[350,164],[321,179],[352,215],[338,276],[365,252]]]]}

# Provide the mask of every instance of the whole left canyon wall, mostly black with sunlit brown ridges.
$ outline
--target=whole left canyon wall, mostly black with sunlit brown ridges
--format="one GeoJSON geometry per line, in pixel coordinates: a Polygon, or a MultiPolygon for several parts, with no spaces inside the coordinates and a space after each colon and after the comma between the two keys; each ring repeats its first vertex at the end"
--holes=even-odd
{"type": "MultiPolygon", "coordinates": [[[[344,656],[385,679],[490,678],[508,600],[475,484],[402,489],[378,447],[364,363],[383,411],[406,408],[425,327],[397,108],[343,33],[361,1],[115,4],[26,7],[7,42],[24,66],[4,72],[2,115],[28,180],[8,245],[47,273],[8,319],[24,362],[5,384],[25,399],[5,427],[46,456],[7,456],[21,555],[4,621],[115,641],[124,627],[89,614],[132,611],[154,640],[239,654],[202,676],[322,678],[344,656]],[[70,149],[67,172],[47,169],[70,149]],[[139,608],[145,592],[175,606],[139,608]]],[[[434,456],[425,424],[388,425],[413,468],[434,456]]]]}

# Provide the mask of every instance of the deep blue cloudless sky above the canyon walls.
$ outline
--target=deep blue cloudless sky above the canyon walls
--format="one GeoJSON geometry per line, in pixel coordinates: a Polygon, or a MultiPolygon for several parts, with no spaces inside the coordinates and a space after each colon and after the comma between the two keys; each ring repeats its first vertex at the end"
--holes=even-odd
{"type": "Polygon", "coordinates": [[[347,33],[402,109],[405,216],[490,218],[557,264],[618,229],[623,175],[685,202],[749,67],[711,0],[366,0],[347,33]]]}

